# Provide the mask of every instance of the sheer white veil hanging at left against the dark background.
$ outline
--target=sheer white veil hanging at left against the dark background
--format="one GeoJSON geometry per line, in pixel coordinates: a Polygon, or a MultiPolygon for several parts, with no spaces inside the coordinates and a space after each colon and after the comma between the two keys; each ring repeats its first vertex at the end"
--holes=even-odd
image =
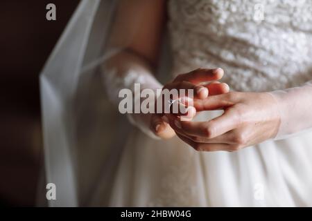
{"type": "Polygon", "coordinates": [[[105,42],[117,3],[82,0],[40,75],[46,183],[56,186],[49,206],[108,204],[110,181],[131,129],[107,101],[99,68],[112,51],[105,50],[105,42]]]}

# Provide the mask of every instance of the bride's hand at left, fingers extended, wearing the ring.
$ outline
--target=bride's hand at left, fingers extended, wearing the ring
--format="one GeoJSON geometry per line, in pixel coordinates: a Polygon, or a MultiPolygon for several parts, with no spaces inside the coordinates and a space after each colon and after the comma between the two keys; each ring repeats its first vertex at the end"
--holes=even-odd
{"type": "MultiPolygon", "coordinates": [[[[194,99],[205,99],[208,95],[218,95],[227,93],[229,86],[224,83],[219,83],[218,80],[223,77],[223,70],[221,68],[216,69],[204,69],[199,68],[189,73],[181,74],[175,77],[173,81],[166,84],[163,88],[171,90],[173,88],[180,89],[193,89],[194,99]],[[205,81],[212,81],[208,84],[202,84],[205,81]]],[[[168,105],[168,101],[164,101],[162,96],[157,99],[157,102],[162,102],[162,106],[168,105]]],[[[185,104],[185,103],[184,103],[185,104]]],[[[155,104],[157,106],[157,104],[155,104]]],[[[195,115],[196,111],[193,108],[189,108],[189,115],[195,115]]],[[[168,139],[175,135],[175,131],[169,126],[168,119],[162,114],[147,114],[145,117],[149,117],[150,129],[162,139],[168,139]]]]}

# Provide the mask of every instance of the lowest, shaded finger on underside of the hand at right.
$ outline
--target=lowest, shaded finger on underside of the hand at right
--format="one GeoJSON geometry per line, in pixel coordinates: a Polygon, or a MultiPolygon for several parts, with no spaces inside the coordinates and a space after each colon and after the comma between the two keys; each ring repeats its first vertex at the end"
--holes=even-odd
{"type": "Polygon", "coordinates": [[[198,142],[193,142],[189,140],[187,137],[177,133],[177,136],[180,137],[181,140],[192,146],[196,151],[231,151],[231,147],[229,144],[202,144],[198,142]]]}

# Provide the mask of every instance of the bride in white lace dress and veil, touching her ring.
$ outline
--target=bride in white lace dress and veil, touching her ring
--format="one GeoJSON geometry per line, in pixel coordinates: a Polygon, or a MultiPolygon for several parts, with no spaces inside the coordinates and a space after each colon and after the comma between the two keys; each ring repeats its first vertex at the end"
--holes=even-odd
{"type": "Polygon", "coordinates": [[[82,1],[41,78],[51,205],[312,206],[311,12],[309,1],[82,1]],[[135,83],[193,88],[196,117],[128,113],[128,130],[101,79],[115,107],[135,83]]]}

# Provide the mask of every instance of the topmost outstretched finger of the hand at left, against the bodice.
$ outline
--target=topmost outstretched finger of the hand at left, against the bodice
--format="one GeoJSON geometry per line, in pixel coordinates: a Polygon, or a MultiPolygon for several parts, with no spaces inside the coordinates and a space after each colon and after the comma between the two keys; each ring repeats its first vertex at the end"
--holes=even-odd
{"type": "Polygon", "coordinates": [[[204,81],[217,81],[223,77],[224,71],[222,68],[198,68],[189,73],[178,75],[173,82],[189,81],[193,84],[200,84],[204,81]]]}

